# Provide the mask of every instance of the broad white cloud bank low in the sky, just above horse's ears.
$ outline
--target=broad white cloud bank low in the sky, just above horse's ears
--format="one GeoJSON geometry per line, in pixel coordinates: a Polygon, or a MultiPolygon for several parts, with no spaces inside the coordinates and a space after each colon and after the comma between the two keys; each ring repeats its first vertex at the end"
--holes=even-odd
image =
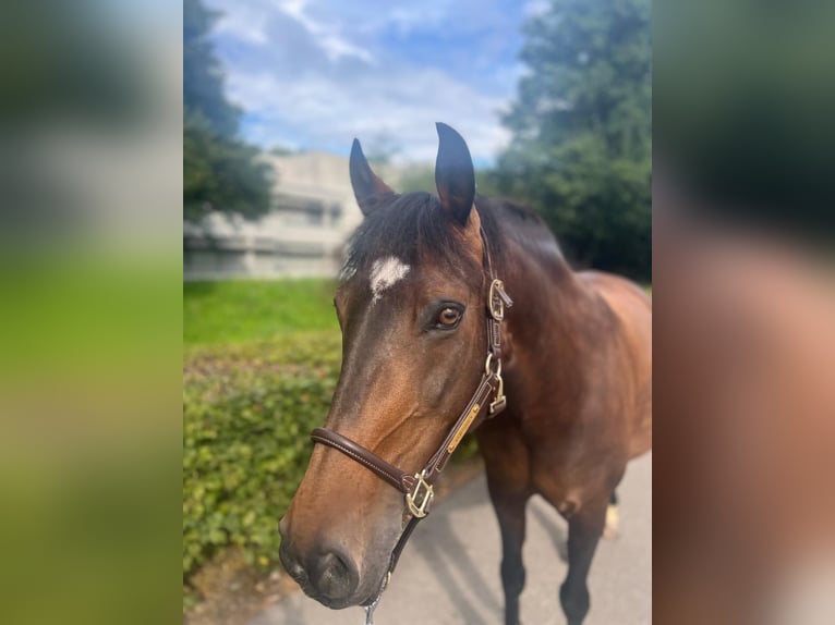
{"type": "Polygon", "coordinates": [[[438,121],[458,130],[476,159],[491,160],[509,140],[498,121],[505,100],[432,68],[388,75],[385,88],[375,76],[335,83],[322,76],[282,81],[268,73],[235,73],[229,88],[258,120],[247,138],[262,145],[287,144],[288,128],[298,130],[307,145],[348,146],[354,136],[367,144],[385,135],[399,145],[397,158],[432,161],[438,121]]]}

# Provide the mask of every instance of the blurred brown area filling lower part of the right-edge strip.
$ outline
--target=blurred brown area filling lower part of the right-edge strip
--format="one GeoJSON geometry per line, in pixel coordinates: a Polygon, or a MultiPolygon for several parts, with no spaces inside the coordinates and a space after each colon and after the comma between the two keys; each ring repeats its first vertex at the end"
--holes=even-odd
{"type": "Polygon", "coordinates": [[[654,222],[655,617],[832,623],[835,265],[668,191],[654,222]]]}

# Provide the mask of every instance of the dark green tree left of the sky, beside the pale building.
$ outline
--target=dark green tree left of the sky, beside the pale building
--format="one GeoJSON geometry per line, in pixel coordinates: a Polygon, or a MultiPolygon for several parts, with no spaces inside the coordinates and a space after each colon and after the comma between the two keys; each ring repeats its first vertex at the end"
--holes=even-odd
{"type": "Polygon", "coordinates": [[[270,168],[238,137],[241,111],[223,94],[208,33],[217,14],[183,3],[183,217],[213,210],[258,217],[269,210],[270,168]]]}

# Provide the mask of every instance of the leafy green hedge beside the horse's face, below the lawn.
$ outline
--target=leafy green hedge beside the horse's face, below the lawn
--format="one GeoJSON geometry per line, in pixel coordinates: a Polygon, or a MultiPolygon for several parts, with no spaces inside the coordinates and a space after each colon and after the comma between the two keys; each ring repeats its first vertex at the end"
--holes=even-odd
{"type": "Polygon", "coordinates": [[[227,547],[266,566],[336,388],[338,332],[191,350],[183,371],[183,576],[227,547]]]}

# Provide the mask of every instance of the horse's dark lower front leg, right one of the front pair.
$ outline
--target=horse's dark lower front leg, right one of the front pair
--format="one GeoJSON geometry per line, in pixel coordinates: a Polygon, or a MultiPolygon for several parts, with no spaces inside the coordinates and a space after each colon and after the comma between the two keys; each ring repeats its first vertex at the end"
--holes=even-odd
{"type": "Polygon", "coordinates": [[[568,520],[568,575],[559,588],[559,600],[568,625],[581,625],[589,612],[586,579],[597,541],[606,525],[604,500],[577,511],[568,520]]]}

